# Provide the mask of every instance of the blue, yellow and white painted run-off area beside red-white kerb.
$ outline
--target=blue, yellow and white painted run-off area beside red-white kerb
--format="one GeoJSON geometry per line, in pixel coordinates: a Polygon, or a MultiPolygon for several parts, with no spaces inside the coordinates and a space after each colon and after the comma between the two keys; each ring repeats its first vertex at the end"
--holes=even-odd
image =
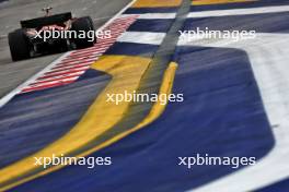
{"type": "Polygon", "coordinates": [[[138,0],[108,26],[125,21],[126,32],[76,81],[15,95],[0,110],[1,190],[288,191],[289,2],[236,1],[138,0]],[[174,40],[178,28],[206,26],[257,35],[174,40]],[[124,89],[185,99],[166,106],[104,101],[124,89]],[[113,165],[33,166],[33,156],[51,153],[109,156],[113,165]],[[197,153],[253,156],[257,164],[177,165],[177,157],[197,153]]]}

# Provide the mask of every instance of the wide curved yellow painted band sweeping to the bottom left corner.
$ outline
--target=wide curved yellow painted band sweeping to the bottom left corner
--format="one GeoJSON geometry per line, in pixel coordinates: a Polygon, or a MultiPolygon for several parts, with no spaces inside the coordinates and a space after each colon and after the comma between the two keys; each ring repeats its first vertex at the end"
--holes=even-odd
{"type": "MultiPolygon", "coordinates": [[[[128,56],[104,56],[92,69],[104,71],[113,76],[112,81],[90,106],[86,113],[71,131],[58,141],[51,143],[38,153],[22,159],[0,170],[0,189],[13,182],[23,182],[35,178],[39,173],[50,171],[44,170],[42,166],[35,166],[34,157],[53,157],[69,155],[79,149],[95,137],[116,124],[128,110],[129,103],[123,101],[116,105],[106,101],[106,94],[118,94],[127,91],[131,93],[139,86],[141,76],[144,74],[151,59],[128,56]]],[[[57,129],[57,128],[54,128],[57,129]]]]}

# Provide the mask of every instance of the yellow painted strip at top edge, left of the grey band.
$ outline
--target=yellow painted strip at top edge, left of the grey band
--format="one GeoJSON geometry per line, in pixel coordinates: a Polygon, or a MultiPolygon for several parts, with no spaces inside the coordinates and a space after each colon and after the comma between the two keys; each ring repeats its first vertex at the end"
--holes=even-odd
{"type": "Polygon", "coordinates": [[[182,0],[138,0],[132,8],[165,8],[178,7],[182,0]]]}

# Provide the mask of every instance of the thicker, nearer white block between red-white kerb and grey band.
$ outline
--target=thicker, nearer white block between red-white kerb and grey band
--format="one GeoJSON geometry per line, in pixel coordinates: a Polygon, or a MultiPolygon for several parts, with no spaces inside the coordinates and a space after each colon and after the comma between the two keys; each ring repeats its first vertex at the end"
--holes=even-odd
{"type": "Polygon", "coordinates": [[[135,44],[151,44],[161,45],[165,37],[165,33],[152,32],[125,32],[117,41],[135,43],[135,44]]]}

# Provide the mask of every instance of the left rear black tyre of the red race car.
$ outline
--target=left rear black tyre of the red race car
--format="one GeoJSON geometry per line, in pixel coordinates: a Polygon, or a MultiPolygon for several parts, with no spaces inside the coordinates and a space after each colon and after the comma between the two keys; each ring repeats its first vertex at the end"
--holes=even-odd
{"type": "Polygon", "coordinates": [[[8,41],[13,61],[28,59],[31,57],[28,39],[23,29],[20,28],[9,33],[8,41]]]}

